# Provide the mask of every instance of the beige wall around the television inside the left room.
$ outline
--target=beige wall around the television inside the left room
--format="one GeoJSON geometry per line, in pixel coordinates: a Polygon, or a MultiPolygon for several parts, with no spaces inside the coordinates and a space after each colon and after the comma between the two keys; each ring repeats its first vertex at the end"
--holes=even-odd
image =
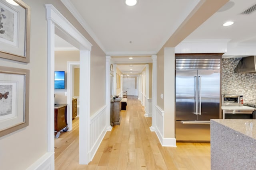
{"type": "Polygon", "coordinates": [[[67,103],[67,82],[70,81],[67,79],[67,69],[68,61],[79,61],[80,52],[79,51],[55,51],[55,70],[65,71],[65,89],[55,89],[55,98],[54,102],[56,104],[67,103]]]}

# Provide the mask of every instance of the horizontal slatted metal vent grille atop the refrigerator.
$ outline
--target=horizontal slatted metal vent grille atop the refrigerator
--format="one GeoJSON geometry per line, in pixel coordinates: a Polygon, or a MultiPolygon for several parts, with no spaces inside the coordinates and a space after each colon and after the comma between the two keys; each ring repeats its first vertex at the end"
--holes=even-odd
{"type": "Polygon", "coordinates": [[[220,69],[220,59],[176,59],[176,69],[220,69]]]}

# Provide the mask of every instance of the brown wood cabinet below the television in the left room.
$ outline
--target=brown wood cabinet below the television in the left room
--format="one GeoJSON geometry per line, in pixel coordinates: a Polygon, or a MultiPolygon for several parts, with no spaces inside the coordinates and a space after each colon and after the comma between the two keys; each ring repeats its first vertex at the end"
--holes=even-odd
{"type": "Polygon", "coordinates": [[[54,106],[54,131],[58,132],[67,126],[67,104],[56,104],[54,106]]]}

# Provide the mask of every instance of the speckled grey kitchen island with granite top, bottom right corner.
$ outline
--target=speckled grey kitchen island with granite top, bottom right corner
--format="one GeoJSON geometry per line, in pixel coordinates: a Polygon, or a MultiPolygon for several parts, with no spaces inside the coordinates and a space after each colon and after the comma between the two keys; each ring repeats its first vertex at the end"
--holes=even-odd
{"type": "Polygon", "coordinates": [[[256,120],[211,119],[211,170],[256,167],[256,120]]]}

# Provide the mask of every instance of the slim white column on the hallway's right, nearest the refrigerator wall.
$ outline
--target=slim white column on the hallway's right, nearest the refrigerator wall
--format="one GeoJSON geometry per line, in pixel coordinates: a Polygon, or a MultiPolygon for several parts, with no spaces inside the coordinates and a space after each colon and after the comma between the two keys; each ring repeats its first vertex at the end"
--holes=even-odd
{"type": "Polygon", "coordinates": [[[152,123],[151,123],[151,127],[150,130],[151,131],[156,131],[156,105],[157,105],[157,56],[156,55],[152,55],[151,56],[152,60],[153,60],[153,64],[152,64],[152,123]]]}

